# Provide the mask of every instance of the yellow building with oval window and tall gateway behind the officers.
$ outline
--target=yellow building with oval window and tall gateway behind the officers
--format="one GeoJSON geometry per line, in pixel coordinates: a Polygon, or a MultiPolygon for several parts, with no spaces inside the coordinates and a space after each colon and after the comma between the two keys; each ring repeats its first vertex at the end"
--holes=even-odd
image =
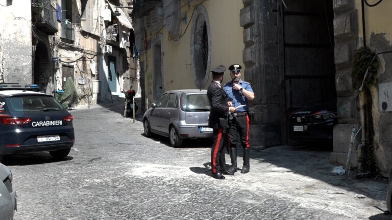
{"type": "MultiPolygon", "coordinates": [[[[206,82],[211,80],[205,69],[237,62],[243,65],[242,77],[251,82],[256,96],[251,102],[254,112],[251,145],[296,144],[287,135],[290,113],[304,106],[333,101],[339,124],[334,128],[330,161],[345,164],[352,128],[357,131],[365,119],[372,120],[371,125],[366,125],[372,129],[368,127],[365,133],[360,132],[357,144],[366,139],[364,136],[373,136],[372,143],[367,145],[373,147],[378,172],[386,175],[391,164],[386,135],[389,116],[375,108],[379,92],[376,87],[371,88],[373,104],[367,107],[360,104],[364,99],[356,91],[351,76],[351,59],[366,42],[364,38],[373,51],[388,50],[390,32],[385,24],[388,21],[381,15],[387,14],[382,12],[390,3],[381,1],[380,5],[386,6],[378,9],[364,6],[369,28],[362,34],[362,5],[369,1],[228,2],[135,1],[135,41],[143,53],[143,108],[148,108],[162,91],[205,89],[206,82]],[[226,17],[227,14],[231,16],[226,17]],[[197,48],[206,50],[199,53],[197,48]],[[204,55],[206,64],[202,66],[194,58],[204,55]],[[366,114],[371,117],[364,117],[366,114]]],[[[378,56],[385,68],[380,71],[387,72],[384,56],[390,54],[378,56]]],[[[388,81],[387,74],[379,74],[380,82],[388,81]]],[[[226,75],[224,80],[230,78],[226,75]]],[[[358,165],[357,155],[354,149],[351,157],[354,168],[358,165]]]]}

